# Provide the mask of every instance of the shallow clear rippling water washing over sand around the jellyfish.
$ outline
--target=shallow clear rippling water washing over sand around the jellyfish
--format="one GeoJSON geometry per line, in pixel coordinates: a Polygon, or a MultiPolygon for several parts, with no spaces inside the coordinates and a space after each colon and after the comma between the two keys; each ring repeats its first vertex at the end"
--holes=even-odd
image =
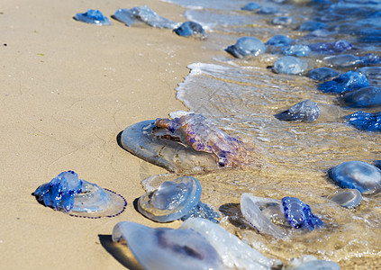
{"type": "MultiPolygon", "coordinates": [[[[375,19],[379,16],[376,12],[381,12],[381,2],[256,2],[277,7],[281,12],[277,15],[240,11],[249,1],[167,2],[191,7],[186,11],[186,18],[206,27],[209,39],[204,41],[205,47],[211,51],[209,63],[188,66],[190,74],[177,87],[177,98],[190,111],[211,118],[227,133],[254,141],[263,148],[268,162],[268,166],[260,170],[225,170],[197,175],[203,186],[203,202],[230,215],[222,226],[265,256],[286,262],[292,257],[309,254],[333,260],[342,269],[376,269],[381,262],[381,196],[365,195],[358,208],[342,208],[327,199],[338,189],[328,178],[327,171],[344,161],[372,163],[380,159],[381,135],[350,126],[343,116],[358,110],[341,107],[338,95],[323,94],[317,90],[318,83],[307,76],[274,74],[268,66],[282,56],[277,51],[268,49],[257,58],[235,59],[227,53],[225,57],[216,56],[215,50],[234,44],[240,36],[255,36],[266,42],[275,34],[284,34],[298,39],[297,43],[344,39],[357,48],[343,54],[380,54],[381,42],[364,41],[364,38],[368,38],[367,29],[381,31],[381,21],[379,17],[375,19]],[[292,16],[296,23],[287,27],[269,23],[280,15],[292,16]],[[332,33],[328,37],[308,38],[308,31],[295,30],[310,20],[327,23],[326,29],[332,33]],[[317,121],[279,121],[274,117],[306,99],[319,104],[321,115],[317,121]],[[295,232],[286,239],[260,235],[242,221],[241,193],[274,199],[298,197],[311,206],[325,226],[306,234],[295,232]]],[[[326,67],[323,61],[326,56],[312,53],[304,58],[309,63],[308,70],[326,67]]],[[[343,73],[350,69],[337,70],[343,73]]],[[[377,80],[369,83],[380,84],[377,80]]],[[[379,112],[380,108],[365,111],[379,112]]]]}

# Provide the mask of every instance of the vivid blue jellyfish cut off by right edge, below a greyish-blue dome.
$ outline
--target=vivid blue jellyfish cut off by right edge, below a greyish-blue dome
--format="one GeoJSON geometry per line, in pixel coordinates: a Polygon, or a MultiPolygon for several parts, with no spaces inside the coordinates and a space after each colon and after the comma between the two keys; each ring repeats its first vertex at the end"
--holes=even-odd
{"type": "Polygon", "coordinates": [[[345,116],[358,130],[381,131],[381,112],[354,112],[345,116]]]}

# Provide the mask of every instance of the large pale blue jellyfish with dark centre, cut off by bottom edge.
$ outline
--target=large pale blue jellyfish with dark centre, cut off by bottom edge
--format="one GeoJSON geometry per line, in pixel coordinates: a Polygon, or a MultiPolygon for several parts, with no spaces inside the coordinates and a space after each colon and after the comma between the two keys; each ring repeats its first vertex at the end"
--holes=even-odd
{"type": "Polygon", "coordinates": [[[122,239],[146,270],[225,269],[214,247],[194,229],[152,229],[122,221],[113,228],[113,241],[122,239]]]}

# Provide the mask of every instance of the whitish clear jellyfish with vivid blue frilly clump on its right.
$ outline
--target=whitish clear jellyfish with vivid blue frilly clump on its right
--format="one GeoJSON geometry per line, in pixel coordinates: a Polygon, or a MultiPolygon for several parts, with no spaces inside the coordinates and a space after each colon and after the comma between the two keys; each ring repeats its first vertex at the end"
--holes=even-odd
{"type": "Polygon", "coordinates": [[[285,197],[279,201],[243,193],[240,196],[240,211],[259,232],[274,238],[285,238],[285,229],[291,227],[313,230],[323,225],[322,220],[313,215],[307,204],[294,197],[285,197]]]}

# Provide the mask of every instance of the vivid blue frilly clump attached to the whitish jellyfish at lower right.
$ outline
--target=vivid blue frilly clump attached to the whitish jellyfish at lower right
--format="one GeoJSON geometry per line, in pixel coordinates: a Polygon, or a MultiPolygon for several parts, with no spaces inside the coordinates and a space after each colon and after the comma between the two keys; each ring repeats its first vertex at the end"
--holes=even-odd
{"type": "Polygon", "coordinates": [[[295,197],[285,197],[282,199],[283,211],[288,223],[295,229],[309,229],[322,227],[323,223],[313,214],[308,204],[295,197]]]}

